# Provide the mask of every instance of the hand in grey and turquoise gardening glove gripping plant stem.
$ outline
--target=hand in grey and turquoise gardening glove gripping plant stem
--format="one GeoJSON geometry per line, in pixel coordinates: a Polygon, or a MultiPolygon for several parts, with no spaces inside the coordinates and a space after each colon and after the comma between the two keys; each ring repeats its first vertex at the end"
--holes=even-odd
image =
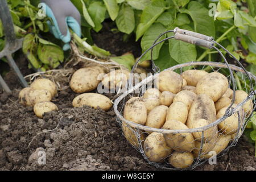
{"type": "Polygon", "coordinates": [[[70,49],[71,34],[70,27],[78,36],[81,37],[81,15],[76,7],[69,0],[41,0],[46,6],[46,15],[52,19],[48,21],[50,32],[55,38],[62,40],[65,45],[63,50],[70,49]]]}

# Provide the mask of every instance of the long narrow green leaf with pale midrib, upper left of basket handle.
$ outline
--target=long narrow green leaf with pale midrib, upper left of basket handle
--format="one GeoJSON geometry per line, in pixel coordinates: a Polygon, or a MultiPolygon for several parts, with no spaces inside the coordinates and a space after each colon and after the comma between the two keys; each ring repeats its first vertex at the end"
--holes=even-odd
{"type": "Polygon", "coordinates": [[[155,22],[163,13],[166,3],[163,0],[153,0],[150,5],[146,6],[141,15],[141,23],[139,23],[136,31],[136,41],[147,31],[147,29],[155,22]]]}

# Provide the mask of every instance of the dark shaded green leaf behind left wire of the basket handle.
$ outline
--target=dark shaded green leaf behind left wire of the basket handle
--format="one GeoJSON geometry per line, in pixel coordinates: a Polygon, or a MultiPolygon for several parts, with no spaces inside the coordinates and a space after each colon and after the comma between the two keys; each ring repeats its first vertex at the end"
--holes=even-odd
{"type": "Polygon", "coordinates": [[[168,44],[163,45],[163,47],[160,49],[158,59],[154,60],[154,62],[155,62],[155,65],[160,68],[160,71],[163,71],[164,69],[167,69],[167,68],[173,67],[174,65],[179,64],[174,59],[172,59],[169,53],[168,44]]]}

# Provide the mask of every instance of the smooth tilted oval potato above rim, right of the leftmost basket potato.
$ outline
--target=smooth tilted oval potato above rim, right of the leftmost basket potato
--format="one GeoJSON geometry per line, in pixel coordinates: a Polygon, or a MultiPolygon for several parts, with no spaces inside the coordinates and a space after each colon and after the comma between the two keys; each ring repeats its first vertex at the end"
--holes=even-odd
{"type": "Polygon", "coordinates": [[[145,126],[160,129],[166,122],[167,106],[157,106],[147,115],[145,126]]]}

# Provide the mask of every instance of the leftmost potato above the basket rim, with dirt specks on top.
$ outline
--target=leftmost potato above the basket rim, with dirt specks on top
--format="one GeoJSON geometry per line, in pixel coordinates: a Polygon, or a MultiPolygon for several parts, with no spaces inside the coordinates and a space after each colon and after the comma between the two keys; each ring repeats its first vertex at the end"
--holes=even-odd
{"type": "Polygon", "coordinates": [[[139,97],[130,98],[125,104],[123,117],[128,121],[144,125],[147,120],[147,109],[142,99],[139,97]]]}

